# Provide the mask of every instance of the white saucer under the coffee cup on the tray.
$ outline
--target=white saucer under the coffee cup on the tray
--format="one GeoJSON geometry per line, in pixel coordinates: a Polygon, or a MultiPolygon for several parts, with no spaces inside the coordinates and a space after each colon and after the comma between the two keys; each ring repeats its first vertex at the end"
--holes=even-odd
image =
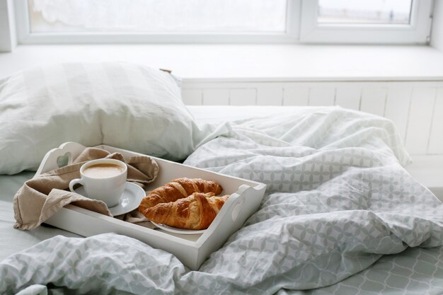
{"type": "MultiPolygon", "coordinates": [[[[86,195],[84,187],[81,185],[75,189],[75,192],[79,195],[86,195]]],[[[134,185],[134,183],[126,182],[125,191],[123,191],[123,195],[120,199],[120,203],[115,205],[114,207],[110,207],[109,211],[113,216],[122,215],[128,212],[131,212],[134,209],[139,207],[140,202],[145,196],[145,192],[142,187],[138,185],[134,185]]]]}

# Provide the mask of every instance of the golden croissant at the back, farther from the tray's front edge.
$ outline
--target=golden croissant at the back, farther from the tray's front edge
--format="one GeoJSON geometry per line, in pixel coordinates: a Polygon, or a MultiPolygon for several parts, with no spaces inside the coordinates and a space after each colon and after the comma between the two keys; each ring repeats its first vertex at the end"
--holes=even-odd
{"type": "Polygon", "coordinates": [[[157,187],[144,197],[139,204],[139,212],[143,213],[144,210],[154,207],[156,204],[174,202],[177,199],[188,197],[194,192],[214,192],[215,195],[219,195],[222,193],[222,190],[221,185],[211,180],[176,178],[170,183],[166,183],[166,185],[157,187]]]}

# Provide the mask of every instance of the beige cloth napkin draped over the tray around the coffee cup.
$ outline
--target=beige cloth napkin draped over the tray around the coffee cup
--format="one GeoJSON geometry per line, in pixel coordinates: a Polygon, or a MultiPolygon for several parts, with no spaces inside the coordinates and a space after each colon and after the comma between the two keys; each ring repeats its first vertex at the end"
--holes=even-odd
{"type": "MultiPolygon", "coordinates": [[[[70,192],[69,182],[80,178],[80,167],[87,161],[96,158],[115,158],[127,163],[127,181],[136,183],[144,188],[156,179],[159,165],[149,156],[134,156],[127,161],[120,153],[110,154],[108,151],[96,148],[85,149],[71,165],[51,170],[25,182],[18,190],[13,200],[16,229],[35,229],[49,219],[59,209],[67,204],[88,209],[100,214],[112,216],[106,204],[96,199],[89,199],[70,192]]],[[[120,217],[125,220],[125,216],[120,217]]],[[[146,221],[142,214],[132,212],[127,214],[130,222],[146,221]]]]}

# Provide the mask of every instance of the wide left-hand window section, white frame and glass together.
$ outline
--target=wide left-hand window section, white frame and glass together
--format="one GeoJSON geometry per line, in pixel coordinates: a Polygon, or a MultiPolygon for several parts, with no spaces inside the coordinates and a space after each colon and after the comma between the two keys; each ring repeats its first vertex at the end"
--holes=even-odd
{"type": "Polygon", "coordinates": [[[295,42],[299,0],[16,0],[21,42],[295,42]]]}

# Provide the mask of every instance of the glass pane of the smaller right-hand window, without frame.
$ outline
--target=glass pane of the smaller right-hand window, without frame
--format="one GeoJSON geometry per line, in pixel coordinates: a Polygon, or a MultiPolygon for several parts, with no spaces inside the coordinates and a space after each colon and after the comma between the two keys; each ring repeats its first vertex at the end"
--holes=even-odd
{"type": "Polygon", "coordinates": [[[410,23],[412,0],[318,0],[318,23],[410,23]]]}

